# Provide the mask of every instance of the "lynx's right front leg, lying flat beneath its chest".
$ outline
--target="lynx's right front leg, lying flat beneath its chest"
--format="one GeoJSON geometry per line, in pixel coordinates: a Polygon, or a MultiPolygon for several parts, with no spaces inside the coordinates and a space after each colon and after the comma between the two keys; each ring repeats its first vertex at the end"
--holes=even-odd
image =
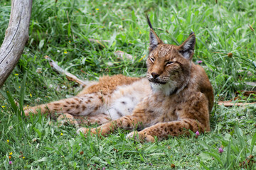
{"type": "Polygon", "coordinates": [[[204,132],[206,128],[197,120],[183,119],[168,123],[157,123],[142,131],[130,132],[127,138],[134,137],[140,142],[154,142],[154,136],[158,137],[159,140],[164,140],[169,136],[177,137],[180,135],[189,135],[188,130],[204,132]],[[139,137],[139,139],[137,137],[139,137]]]}

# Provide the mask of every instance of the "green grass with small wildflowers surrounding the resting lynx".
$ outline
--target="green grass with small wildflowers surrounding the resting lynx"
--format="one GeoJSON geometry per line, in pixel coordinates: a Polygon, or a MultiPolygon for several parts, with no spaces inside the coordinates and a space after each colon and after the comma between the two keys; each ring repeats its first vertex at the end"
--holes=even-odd
{"type": "MultiPolygon", "coordinates": [[[[0,41],[10,5],[0,2],[0,41]]],[[[174,165],[176,169],[255,169],[255,158],[247,164],[249,155],[256,156],[255,105],[215,104],[211,132],[140,144],[126,140],[124,130],[102,139],[85,138],[76,135],[72,126],[50,125],[41,115],[22,118],[13,103],[33,106],[80,91],[78,84],[50,68],[45,55],[80,79],[120,73],[144,76],[142,57],[149,45],[144,12],[164,42],[179,45],[193,30],[197,38],[193,62],[203,61],[216,103],[233,99],[236,91],[252,89],[245,82],[256,81],[255,8],[254,0],[34,1],[30,38],[0,89],[1,169],[171,169],[174,165]],[[110,42],[102,47],[88,38],[110,42]],[[134,61],[119,60],[113,54],[116,50],[133,55],[134,61]]],[[[238,101],[256,99],[240,94],[238,101]]]]}

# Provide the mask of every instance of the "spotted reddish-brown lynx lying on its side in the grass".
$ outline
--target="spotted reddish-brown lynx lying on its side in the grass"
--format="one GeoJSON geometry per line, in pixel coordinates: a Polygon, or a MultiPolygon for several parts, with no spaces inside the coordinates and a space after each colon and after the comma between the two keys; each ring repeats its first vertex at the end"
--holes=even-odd
{"type": "Polygon", "coordinates": [[[40,110],[58,115],[62,123],[100,124],[79,128],[77,132],[85,135],[135,130],[127,137],[141,142],[189,135],[189,130],[210,131],[213,89],[204,69],[192,62],[195,34],[179,46],[165,44],[146,18],[150,27],[146,78],[105,76],[78,96],[28,108],[25,114],[40,110]]]}

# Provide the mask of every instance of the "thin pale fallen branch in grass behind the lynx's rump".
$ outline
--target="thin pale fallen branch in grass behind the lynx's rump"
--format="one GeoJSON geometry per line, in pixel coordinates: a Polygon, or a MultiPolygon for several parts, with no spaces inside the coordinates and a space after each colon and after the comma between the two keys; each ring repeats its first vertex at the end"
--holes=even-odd
{"type": "Polygon", "coordinates": [[[69,79],[70,81],[75,81],[78,84],[81,84],[82,86],[87,85],[86,81],[82,81],[82,80],[78,79],[78,77],[74,76],[73,74],[70,74],[69,72],[65,71],[63,68],[59,67],[58,64],[56,62],[54,62],[53,60],[51,60],[50,57],[48,57],[47,55],[45,58],[46,58],[46,60],[49,61],[50,66],[53,67],[53,69],[55,69],[60,74],[64,74],[67,77],[67,79],[69,79]]]}

